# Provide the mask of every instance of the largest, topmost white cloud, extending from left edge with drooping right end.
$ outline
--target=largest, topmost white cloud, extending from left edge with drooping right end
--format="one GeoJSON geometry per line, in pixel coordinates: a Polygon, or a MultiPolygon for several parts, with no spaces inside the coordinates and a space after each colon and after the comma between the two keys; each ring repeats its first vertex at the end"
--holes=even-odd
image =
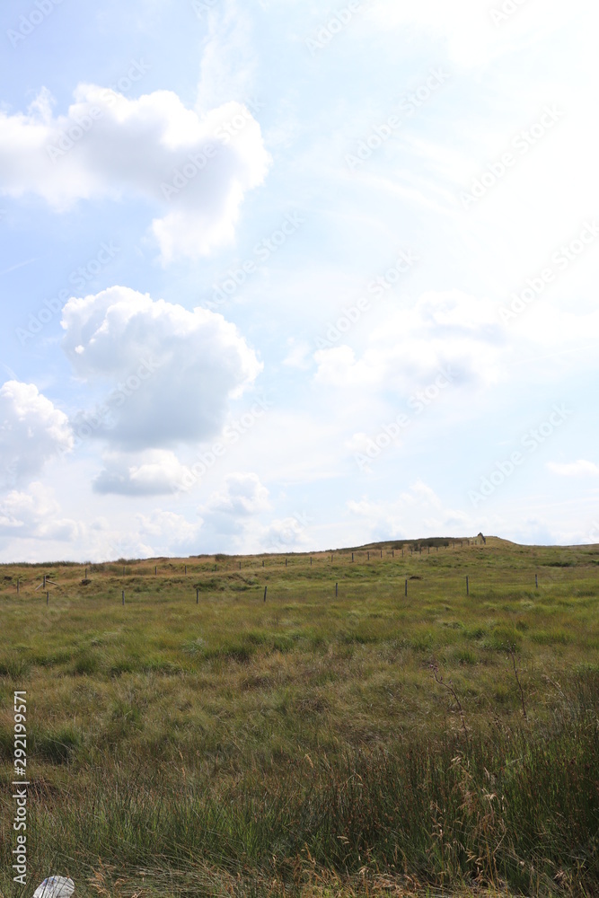
{"type": "Polygon", "coordinates": [[[79,84],[65,115],[53,105],[42,90],[24,113],[0,110],[0,192],[58,210],[145,198],[160,209],[152,230],[165,263],[230,242],[246,191],[269,169],[260,125],[239,102],[200,115],[172,91],[129,100],[79,84]]]}

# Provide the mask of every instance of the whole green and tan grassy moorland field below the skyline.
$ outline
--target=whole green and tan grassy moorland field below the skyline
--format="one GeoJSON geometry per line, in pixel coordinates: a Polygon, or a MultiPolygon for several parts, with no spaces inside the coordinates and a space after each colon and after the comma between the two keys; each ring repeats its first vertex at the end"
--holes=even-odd
{"type": "Polygon", "coordinates": [[[2,894],[599,894],[599,546],[432,542],[0,567],[2,894]]]}

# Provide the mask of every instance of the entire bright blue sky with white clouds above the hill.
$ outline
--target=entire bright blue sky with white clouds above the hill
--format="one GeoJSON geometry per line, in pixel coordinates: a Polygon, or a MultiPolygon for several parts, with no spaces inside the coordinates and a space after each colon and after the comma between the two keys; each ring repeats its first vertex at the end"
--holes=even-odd
{"type": "Polygon", "coordinates": [[[413,5],[4,4],[0,559],[599,541],[597,13],[413,5]]]}

